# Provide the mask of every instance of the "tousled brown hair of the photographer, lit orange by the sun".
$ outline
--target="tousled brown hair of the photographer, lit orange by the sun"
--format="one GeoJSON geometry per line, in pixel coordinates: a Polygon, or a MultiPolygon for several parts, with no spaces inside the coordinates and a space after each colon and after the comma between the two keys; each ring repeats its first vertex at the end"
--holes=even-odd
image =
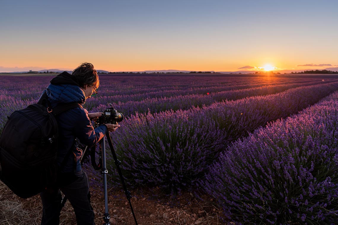
{"type": "Polygon", "coordinates": [[[96,69],[94,69],[93,64],[89,62],[84,62],[76,67],[72,75],[77,78],[80,87],[84,87],[84,85],[88,84],[89,86],[97,88],[100,84],[96,69]]]}

